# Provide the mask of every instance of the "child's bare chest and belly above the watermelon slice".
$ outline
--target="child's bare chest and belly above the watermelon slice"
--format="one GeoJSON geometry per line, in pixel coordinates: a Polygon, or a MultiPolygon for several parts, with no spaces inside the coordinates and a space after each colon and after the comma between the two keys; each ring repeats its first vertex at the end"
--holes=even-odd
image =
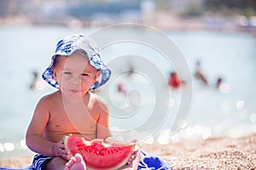
{"type": "Polygon", "coordinates": [[[45,133],[96,135],[96,110],[84,105],[55,105],[50,111],[45,133]]]}

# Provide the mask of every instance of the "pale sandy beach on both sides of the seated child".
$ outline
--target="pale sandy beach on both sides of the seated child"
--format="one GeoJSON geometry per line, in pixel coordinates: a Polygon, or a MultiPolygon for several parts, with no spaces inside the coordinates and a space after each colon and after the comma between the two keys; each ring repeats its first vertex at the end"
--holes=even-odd
{"type": "MultiPolygon", "coordinates": [[[[256,169],[256,133],[232,139],[189,139],[171,144],[140,144],[143,151],[164,158],[172,169],[256,169]]],[[[4,157],[0,167],[26,167],[32,157],[4,157]]]]}

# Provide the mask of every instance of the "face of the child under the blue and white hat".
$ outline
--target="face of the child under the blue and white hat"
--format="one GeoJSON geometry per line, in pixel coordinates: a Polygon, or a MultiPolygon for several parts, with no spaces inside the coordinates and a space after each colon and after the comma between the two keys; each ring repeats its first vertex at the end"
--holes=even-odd
{"type": "Polygon", "coordinates": [[[69,57],[60,57],[54,74],[62,94],[83,96],[96,81],[99,71],[88,63],[86,56],[74,52],[69,57]]]}

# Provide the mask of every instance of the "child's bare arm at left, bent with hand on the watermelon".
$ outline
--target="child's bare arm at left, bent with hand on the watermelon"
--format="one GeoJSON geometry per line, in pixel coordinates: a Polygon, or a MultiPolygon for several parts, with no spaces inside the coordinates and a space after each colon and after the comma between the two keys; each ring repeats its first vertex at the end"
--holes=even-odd
{"type": "Polygon", "coordinates": [[[26,145],[29,149],[39,154],[64,157],[64,155],[66,155],[64,153],[65,145],[61,144],[61,141],[54,143],[43,138],[44,128],[49,121],[50,105],[52,104],[47,96],[40,99],[38,102],[32,116],[32,121],[30,122],[26,131],[26,145]]]}

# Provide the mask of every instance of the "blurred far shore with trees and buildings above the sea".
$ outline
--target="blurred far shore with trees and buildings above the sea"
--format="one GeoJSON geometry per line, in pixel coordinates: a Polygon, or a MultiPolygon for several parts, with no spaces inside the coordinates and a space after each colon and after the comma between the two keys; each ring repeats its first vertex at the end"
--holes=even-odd
{"type": "Polygon", "coordinates": [[[108,26],[136,22],[161,29],[247,31],[253,0],[1,0],[1,25],[108,26]]]}

